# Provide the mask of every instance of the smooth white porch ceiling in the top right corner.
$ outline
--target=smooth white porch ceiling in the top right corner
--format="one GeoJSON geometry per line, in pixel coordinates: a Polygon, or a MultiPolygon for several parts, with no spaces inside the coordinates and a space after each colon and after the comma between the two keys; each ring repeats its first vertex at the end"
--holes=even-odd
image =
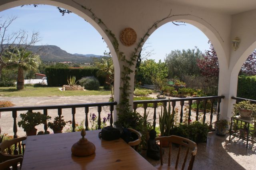
{"type": "Polygon", "coordinates": [[[163,0],[175,4],[198,6],[226,14],[238,14],[256,9],[256,0],[163,0]]]}

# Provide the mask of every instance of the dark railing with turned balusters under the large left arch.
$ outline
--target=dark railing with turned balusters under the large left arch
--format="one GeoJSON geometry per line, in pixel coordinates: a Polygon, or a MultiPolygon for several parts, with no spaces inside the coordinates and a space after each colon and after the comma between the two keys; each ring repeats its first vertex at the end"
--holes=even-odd
{"type": "MultiPolygon", "coordinates": [[[[100,113],[102,110],[102,106],[109,106],[110,107],[110,125],[113,125],[113,110],[114,105],[116,105],[116,102],[104,102],[104,103],[89,103],[89,104],[66,104],[66,105],[51,105],[51,106],[28,106],[28,107],[3,107],[0,108],[0,112],[3,111],[12,111],[12,117],[13,117],[13,132],[14,132],[14,138],[17,138],[17,111],[33,111],[33,110],[43,110],[44,115],[48,115],[49,109],[58,109],[58,115],[62,115],[62,109],[71,108],[72,109],[72,131],[75,131],[76,128],[76,120],[75,120],[75,114],[76,114],[76,108],[84,107],[85,112],[85,129],[89,130],[88,128],[88,113],[89,113],[89,107],[98,107],[98,129],[100,129],[101,125],[101,119],[100,119],[100,113]]],[[[47,131],[47,122],[44,123],[44,131],[47,131]]]]}

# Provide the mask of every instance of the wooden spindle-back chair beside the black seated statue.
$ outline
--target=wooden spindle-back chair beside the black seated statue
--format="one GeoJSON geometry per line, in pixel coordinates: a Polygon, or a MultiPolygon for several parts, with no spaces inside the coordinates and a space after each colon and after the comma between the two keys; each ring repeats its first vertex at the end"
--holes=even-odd
{"type": "Polygon", "coordinates": [[[186,154],[184,155],[184,161],[182,164],[182,170],[184,170],[187,159],[188,159],[188,153],[190,152],[191,154],[191,158],[188,164],[188,170],[192,170],[193,168],[193,164],[194,164],[194,160],[195,160],[195,156],[197,153],[197,145],[196,143],[194,143],[193,141],[186,139],[184,137],[179,137],[179,136],[168,136],[168,137],[156,137],[156,141],[160,141],[160,160],[161,160],[161,164],[156,167],[157,169],[178,169],[178,164],[179,164],[179,158],[180,158],[180,150],[183,147],[186,147],[186,154]],[[162,143],[163,142],[169,142],[169,153],[168,153],[168,165],[163,164],[163,157],[162,157],[162,143]],[[179,145],[179,149],[178,149],[178,154],[177,154],[177,158],[176,158],[176,162],[175,162],[175,166],[170,166],[171,165],[171,150],[172,150],[172,143],[178,144],[179,145]]]}

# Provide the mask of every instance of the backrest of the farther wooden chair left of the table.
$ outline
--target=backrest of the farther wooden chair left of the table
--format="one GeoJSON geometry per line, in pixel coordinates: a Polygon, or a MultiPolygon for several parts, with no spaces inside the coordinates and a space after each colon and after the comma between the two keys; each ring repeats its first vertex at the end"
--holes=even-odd
{"type": "MultiPolygon", "coordinates": [[[[7,151],[8,154],[12,154],[11,146],[18,143],[19,154],[22,154],[20,142],[24,141],[24,140],[26,140],[26,137],[20,137],[20,138],[2,141],[2,143],[0,143],[0,151],[4,152],[5,149],[8,149],[8,151],[7,151]]],[[[24,150],[23,150],[23,152],[24,152],[24,150]]],[[[14,153],[14,154],[18,154],[18,153],[14,153]]]]}

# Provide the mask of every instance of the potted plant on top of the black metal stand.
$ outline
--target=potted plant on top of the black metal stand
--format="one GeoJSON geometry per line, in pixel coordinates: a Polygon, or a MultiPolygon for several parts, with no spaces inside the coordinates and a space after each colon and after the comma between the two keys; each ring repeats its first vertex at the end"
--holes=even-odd
{"type": "Polygon", "coordinates": [[[242,119],[250,119],[253,115],[255,117],[256,104],[251,104],[249,100],[245,100],[234,104],[234,115],[240,115],[242,119]]]}

